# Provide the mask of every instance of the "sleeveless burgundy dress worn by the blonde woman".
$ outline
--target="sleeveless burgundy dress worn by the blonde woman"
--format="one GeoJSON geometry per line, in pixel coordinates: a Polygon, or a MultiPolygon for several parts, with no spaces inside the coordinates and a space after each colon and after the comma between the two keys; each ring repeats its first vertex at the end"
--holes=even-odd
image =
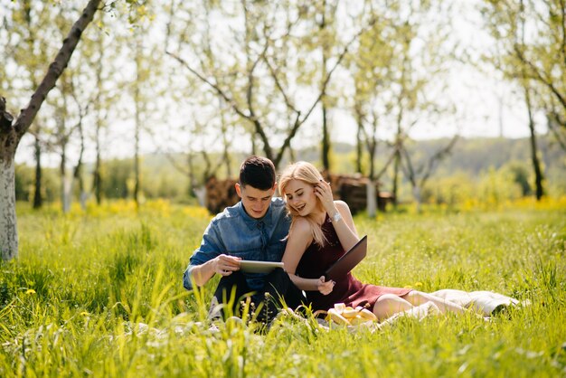
{"type": "MultiPolygon", "coordinates": [[[[303,257],[297,265],[297,276],[303,279],[319,279],[325,274],[335,260],[340,259],[345,251],[338,239],[335,228],[326,215],[322,225],[322,231],[326,237],[324,247],[313,242],[308,246],[303,257]]],[[[307,299],[312,303],[313,310],[327,310],[334,307],[335,303],[344,303],[351,307],[368,307],[373,310],[373,305],[383,294],[394,294],[404,296],[410,292],[410,288],[387,288],[370,284],[363,284],[355,279],[352,273],[348,273],[343,279],[335,279],[335,287],[328,295],[323,295],[318,290],[305,291],[307,299]]]]}

